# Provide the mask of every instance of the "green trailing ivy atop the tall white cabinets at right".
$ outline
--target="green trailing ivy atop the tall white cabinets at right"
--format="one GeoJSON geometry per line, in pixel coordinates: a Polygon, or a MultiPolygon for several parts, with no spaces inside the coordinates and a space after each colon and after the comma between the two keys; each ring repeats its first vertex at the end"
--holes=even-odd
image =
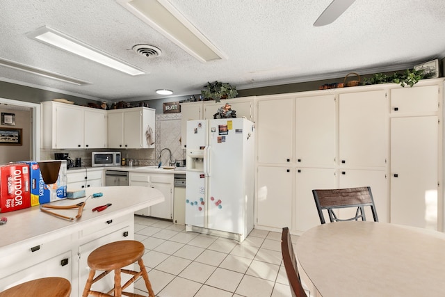
{"type": "Polygon", "coordinates": [[[373,74],[369,79],[365,77],[362,84],[374,85],[377,83],[398,83],[403,87],[412,87],[423,78],[425,78],[425,76],[423,75],[423,70],[408,69],[405,72],[396,72],[392,75],[376,73],[373,74]]]}

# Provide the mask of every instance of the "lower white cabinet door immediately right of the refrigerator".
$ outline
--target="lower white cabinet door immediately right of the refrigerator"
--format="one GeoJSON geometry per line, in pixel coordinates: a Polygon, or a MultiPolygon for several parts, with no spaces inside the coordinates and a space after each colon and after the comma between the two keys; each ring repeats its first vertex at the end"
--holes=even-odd
{"type": "Polygon", "coordinates": [[[257,225],[290,227],[292,223],[292,169],[258,166],[257,225]]]}

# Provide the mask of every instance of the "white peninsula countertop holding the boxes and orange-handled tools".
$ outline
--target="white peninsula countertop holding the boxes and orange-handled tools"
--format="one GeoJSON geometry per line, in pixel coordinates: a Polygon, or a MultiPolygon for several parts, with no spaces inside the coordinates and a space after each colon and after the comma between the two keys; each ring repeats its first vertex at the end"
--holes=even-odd
{"type": "MultiPolygon", "coordinates": [[[[63,230],[71,233],[76,232],[83,230],[84,227],[90,223],[95,223],[95,221],[108,220],[108,217],[111,219],[116,216],[130,214],[164,201],[164,196],[160,191],[145,186],[86,188],[87,197],[92,193],[99,192],[104,194],[99,198],[88,198],[88,200],[86,198],[65,199],[49,203],[51,205],[72,205],[86,200],[86,206],[83,208],[81,218],[73,221],[46,214],[40,211],[40,206],[1,214],[1,216],[8,218],[8,223],[0,226],[1,252],[8,252],[8,250],[15,248],[17,244],[23,241],[32,242],[35,239],[35,244],[40,244],[38,240],[42,235],[45,236],[45,239],[49,239],[51,236],[60,234],[63,230]],[[101,212],[92,211],[94,207],[107,203],[113,205],[101,212]]],[[[54,209],[54,212],[64,216],[76,216],[77,211],[78,209],[54,209]]]]}

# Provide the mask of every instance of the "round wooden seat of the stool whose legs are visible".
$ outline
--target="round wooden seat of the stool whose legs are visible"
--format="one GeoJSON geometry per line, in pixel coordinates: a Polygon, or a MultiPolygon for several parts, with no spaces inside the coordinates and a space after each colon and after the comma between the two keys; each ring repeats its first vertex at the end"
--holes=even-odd
{"type": "Polygon", "coordinates": [[[114,270],[136,262],[144,255],[145,247],[139,241],[116,241],[93,250],[88,266],[95,270],[114,270]]]}

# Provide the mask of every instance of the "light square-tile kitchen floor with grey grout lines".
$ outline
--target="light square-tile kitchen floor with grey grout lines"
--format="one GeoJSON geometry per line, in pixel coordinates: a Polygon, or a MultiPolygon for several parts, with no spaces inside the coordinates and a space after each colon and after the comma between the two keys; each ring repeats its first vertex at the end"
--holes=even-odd
{"type": "MultiPolygon", "coordinates": [[[[281,233],[255,229],[238,243],[141,216],[135,216],[134,230],[145,245],[143,260],[156,296],[291,297],[281,233]]],[[[143,280],[135,293],[147,296],[143,280]]]]}

